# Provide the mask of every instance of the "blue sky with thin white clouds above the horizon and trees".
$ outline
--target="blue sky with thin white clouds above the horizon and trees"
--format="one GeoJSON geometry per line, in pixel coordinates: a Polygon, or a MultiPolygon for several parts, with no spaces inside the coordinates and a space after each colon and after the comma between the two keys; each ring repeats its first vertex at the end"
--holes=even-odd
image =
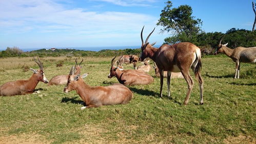
{"type": "MultiPolygon", "coordinates": [[[[149,42],[161,45],[169,33],[156,26],[166,1],[156,0],[1,0],[0,50],[7,47],[140,46],[156,27],[149,42]],[[145,39],[145,38],[144,38],[145,39]]],[[[251,0],[175,0],[173,7],[189,5],[201,18],[205,32],[230,28],[252,29],[251,0]]],[[[255,2],[256,3],[256,2],[255,2]]]]}

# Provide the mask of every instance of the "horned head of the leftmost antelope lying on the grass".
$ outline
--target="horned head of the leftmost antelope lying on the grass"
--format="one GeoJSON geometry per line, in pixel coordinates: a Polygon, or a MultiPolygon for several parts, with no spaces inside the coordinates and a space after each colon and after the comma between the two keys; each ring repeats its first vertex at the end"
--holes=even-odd
{"type": "Polygon", "coordinates": [[[36,76],[38,81],[42,81],[43,83],[47,84],[48,80],[47,80],[47,78],[45,76],[45,73],[44,73],[43,63],[40,61],[38,56],[37,56],[37,60],[35,59],[35,57],[33,58],[33,60],[39,66],[40,70],[34,70],[32,68],[30,68],[30,70],[33,71],[33,73],[36,76]]]}

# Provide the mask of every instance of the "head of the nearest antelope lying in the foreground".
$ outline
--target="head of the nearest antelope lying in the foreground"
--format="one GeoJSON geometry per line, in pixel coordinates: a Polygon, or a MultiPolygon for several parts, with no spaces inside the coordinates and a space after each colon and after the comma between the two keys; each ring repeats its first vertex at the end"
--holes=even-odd
{"type": "MultiPolygon", "coordinates": [[[[88,74],[85,73],[81,77],[85,78],[87,75],[88,74]]],[[[75,88],[80,86],[80,85],[78,85],[79,77],[80,77],[80,72],[76,74],[75,67],[71,67],[69,75],[68,75],[68,83],[64,88],[65,93],[75,90],[75,88]]]]}

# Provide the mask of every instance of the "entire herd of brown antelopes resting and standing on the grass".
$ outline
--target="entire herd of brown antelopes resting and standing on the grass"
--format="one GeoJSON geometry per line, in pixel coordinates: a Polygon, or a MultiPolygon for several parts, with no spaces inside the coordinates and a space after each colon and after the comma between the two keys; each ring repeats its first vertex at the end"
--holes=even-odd
{"type": "MultiPolygon", "coordinates": [[[[143,29],[141,31],[141,55],[121,55],[117,57],[114,62],[113,57],[111,60],[111,68],[108,78],[116,77],[120,84],[113,84],[110,86],[89,86],[85,83],[83,78],[88,74],[80,75],[82,69],[82,61],[77,64],[75,59],[75,66],[71,67],[68,75],[54,76],[48,83],[48,80],[44,74],[44,67],[41,60],[33,58],[35,63],[39,66],[40,70],[34,70],[32,76],[28,80],[16,80],[3,84],[0,86],[0,96],[13,96],[24,95],[33,93],[35,87],[42,81],[48,86],[52,85],[64,85],[64,92],[68,93],[75,90],[81,99],[85,102],[85,108],[100,107],[104,105],[116,105],[127,104],[133,97],[132,91],[127,86],[133,85],[149,85],[154,82],[154,78],[148,73],[151,70],[150,58],[153,60],[153,68],[155,71],[155,77],[160,77],[160,97],[163,97],[163,78],[167,77],[168,96],[170,97],[170,79],[171,78],[183,78],[186,80],[188,90],[184,105],[188,104],[190,93],[193,88],[193,80],[189,74],[189,69],[193,71],[195,78],[199,82],[200,88],[200,104],[204,104],[203,100],[203,78],[201,76],[201,50],[192,43],[178,43],[174,45],[162,45],[160,48],[154,48],[155,43],[149,44],[148,39],[153,33],[154,29],[147,36],[145,42],[143,39],[143,29]],[[144,66],[137,67],[139,61],[143,61],[144,66]],[[123,64],[133,64],[133,69],[124,70],[123,64]]],[[[256,47],[244,48],[238,47],[230,49],[227,44],[222,45],[223,37],[220,40],[218,48],[216,48],[214,54],[225,53],[232,58],[236,63],[235,76],[239,78],[240,63],[256,63],[256,47]]]]}

